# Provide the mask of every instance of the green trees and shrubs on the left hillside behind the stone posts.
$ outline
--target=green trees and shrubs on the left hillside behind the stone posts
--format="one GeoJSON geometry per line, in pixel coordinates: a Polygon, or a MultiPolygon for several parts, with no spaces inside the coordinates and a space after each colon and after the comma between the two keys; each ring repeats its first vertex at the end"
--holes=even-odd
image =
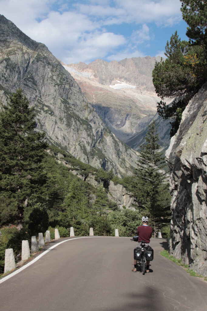
{"type": "MultiPolygon", "coordinates": [[[[73,175],[94,175],[108,184],[113,170],[95,169],[55,146],[48,146],[44,134],[34,131],[34,109],[21,90],[10,96],[0,112],[0,269],[3,272],[6,248],[13,248],[20,257],[21,241],[47,229],[54,238],[68,236],[73,226],[76,235],[120,234],[129,236],[140,224],[136,211],[120,211],[108,201],[105,188],[73,175]],[[47,149],[47,152],[45,151],[47,149]],[[67,164],[58,164],[57,157],[67,164]],[[18,228],[18,230],[17,230],[18,228]]],[[[83,178],[84,179],[84,178],[83,178]]]]}

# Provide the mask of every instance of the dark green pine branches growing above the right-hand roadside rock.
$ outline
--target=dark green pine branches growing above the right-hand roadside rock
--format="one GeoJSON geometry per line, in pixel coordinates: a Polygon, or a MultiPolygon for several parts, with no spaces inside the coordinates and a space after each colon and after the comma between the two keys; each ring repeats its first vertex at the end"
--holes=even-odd
{"type": "Polygon", "coordinates": [[[207,3],[201,0],[181,2],[189,41],[181,40],[176,31],[165,47],[167,59],[156,63],[152,72],[155,90],[161,98],[157,111],[164,119],[172,118],[171,137],[177,132],[189,100],[207,81],[207,3]],[[173,99],[173,103],[167,105],[165,98],[173,99]]]}

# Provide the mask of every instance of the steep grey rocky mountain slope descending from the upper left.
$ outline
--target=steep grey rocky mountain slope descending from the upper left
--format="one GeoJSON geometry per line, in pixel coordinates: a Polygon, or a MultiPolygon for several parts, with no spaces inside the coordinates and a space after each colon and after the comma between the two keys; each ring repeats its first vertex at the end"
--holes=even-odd
{"type": "Polygon", "coordinates": [[[136,167],[137,152],[107,128],[70,73],[48,48],[0,15],[0,100],[22,88],[35,107],[36,130],[76,158],[118,175],[136,167]]]}

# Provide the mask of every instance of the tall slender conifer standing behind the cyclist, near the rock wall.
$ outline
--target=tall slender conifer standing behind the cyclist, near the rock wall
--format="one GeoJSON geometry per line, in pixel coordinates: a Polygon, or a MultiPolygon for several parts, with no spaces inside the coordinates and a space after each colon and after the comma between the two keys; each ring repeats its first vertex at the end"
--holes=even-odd
{"type": "Polygon", "coordinates": [[[153,121],[140,146],[140,156],[135,170],[134,193],[139,209],[149,217],[154,236],[170,217],[170,194],[167,174],[163,170],[165,158],[159,152],[159,134],[153,121]]]}

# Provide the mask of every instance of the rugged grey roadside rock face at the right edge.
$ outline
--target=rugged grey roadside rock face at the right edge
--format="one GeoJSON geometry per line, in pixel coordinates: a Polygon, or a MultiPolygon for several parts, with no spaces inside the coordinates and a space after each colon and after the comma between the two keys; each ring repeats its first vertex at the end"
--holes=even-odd
{"type": "Polygon", "coordinates": [[[170,253],[207,276],[207,84],[184,110],[166,158],[173,196],[170,253]]]}

